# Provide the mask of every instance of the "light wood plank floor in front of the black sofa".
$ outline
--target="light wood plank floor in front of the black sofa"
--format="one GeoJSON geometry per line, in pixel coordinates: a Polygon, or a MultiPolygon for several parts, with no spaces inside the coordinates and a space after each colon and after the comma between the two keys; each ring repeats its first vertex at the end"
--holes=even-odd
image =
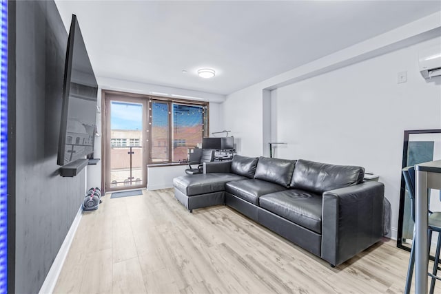
{"type": "Polygon", "coordinates": [[[228,207],[189,213],[172,189],[107,194],[54,293],[402,293],[409,253],[385,241],[332,269],[228,207]]]}

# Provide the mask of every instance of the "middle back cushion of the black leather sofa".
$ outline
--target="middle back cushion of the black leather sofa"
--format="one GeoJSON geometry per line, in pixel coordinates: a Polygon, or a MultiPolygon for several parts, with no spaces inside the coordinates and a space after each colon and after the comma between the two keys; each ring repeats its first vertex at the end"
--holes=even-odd
{"type": "Polygon", "coordinates": [[[260,157],[254,178],[289,187],[296,160],[260,157]]]}

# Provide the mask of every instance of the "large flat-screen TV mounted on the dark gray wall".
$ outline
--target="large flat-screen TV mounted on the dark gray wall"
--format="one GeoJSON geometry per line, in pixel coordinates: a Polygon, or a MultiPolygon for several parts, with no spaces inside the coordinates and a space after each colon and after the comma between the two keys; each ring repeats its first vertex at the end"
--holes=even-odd
{"type": "Polygon", "coordinates": [[[98,84],[76,16],[66,50],[58,165],[93,154],[98,84]]]}

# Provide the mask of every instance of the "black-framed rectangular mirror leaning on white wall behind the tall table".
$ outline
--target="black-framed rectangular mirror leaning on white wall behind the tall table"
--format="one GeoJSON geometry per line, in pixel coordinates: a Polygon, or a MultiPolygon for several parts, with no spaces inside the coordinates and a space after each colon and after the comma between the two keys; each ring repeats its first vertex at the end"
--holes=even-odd
{"type": "MultiPolygon", "coordinates": [[[[441,129],[422,129],[404,131],[402,168],[418,163],[441,159],[441,129]]],[[[439,190],[429,193],[429,209],[441,211],[441,194],[439,190]]],[[[411,204],[404,178],[401,175],[400,213],[398,218],[397,246],[407,251],[411,250],[413,241],[413,225],[411,204]]],[[[437,240],[435,233],[432,240],[437,240]]],[[[435,244],[432,244],[435,245],[435,244]]],[[[431,250],[434,250],[431,249],[431,250]]]]}

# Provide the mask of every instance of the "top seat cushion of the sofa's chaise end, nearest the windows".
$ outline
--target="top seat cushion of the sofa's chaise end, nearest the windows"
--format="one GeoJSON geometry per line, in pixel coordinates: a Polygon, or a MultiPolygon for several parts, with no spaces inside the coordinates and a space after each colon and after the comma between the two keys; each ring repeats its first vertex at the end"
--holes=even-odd
{"type": "Polygon", "coordinates": [[[186,196],[225,191],[225,183],[243,180],[244,176],[230,173],[212,173],[180,176],[173,179],[173,186],[186,196]]]}

